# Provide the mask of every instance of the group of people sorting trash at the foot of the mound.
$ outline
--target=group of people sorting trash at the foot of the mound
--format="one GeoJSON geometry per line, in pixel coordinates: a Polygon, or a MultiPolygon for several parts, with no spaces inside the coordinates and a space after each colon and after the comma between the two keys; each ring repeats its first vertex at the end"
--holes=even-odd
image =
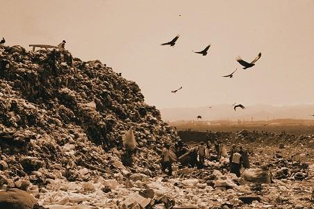
{"type": "MultiPolygon", "coordinates": [[[[179,140],[175,145],[176,155],[181,160],[181,165],[187,165],[189,167],[197,167],[201,169],[205,166],[205,159],[210,158],[212,153],[215,154],[215,158],[219,160],[221,156],[226,156],[226,146],[219,140],[214,140],[213,144],[208,140],[206,143],[196,142],[189,148],[179,140]],[[185,159],[185,160],[184,160],[185,159]]],[[[229,166],[230,172],[240,176],[240,169],[249,168],[249,151],[240,147],[237,149],[233,144],[229,151],[229,166]]],[[[174,153],[170,149],[170,144],[165,144],[161,153],[161,170],[166,172],[169,176],[172,176],[172,162],[174,162],[174,153]]]]}

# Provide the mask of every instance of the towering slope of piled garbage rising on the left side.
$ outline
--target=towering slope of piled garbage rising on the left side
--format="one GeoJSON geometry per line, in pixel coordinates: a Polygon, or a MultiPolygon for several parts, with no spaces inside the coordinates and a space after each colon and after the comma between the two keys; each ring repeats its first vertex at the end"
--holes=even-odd
{"type": "Polygon", "coordinates": [[[67,50],[0,48],[0,185],[47,178],[159,172],[158,152],[176,140],[140,87],[99,60],[67,50]],[[122,135],[132,127],[133,167],[122,165],[122,135]],[[79,171],[88,168],[92,174],[79,171]]]}

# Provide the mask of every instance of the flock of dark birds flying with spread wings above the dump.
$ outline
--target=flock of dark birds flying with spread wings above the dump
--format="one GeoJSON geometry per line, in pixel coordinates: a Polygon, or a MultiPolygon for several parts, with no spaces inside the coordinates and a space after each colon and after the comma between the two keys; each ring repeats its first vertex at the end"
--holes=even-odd
{"type": "MultiPolygon", "coordinates": [[[[165,45],[170,45],[171,47],[174,47],[174,45],[176,44],[176,41],[179,39],[180,35],[176,35],[176,37],[174,37],[174,39],[172,39],[170,42],[165,42],[163,44],[161,44],[162,46],[165,46],[165,45]]],[[[208,53],[208,49],[210,48],[210,44],[205,48],[203,49],[202,51],[193,51],[194,53],[199,53],[201,54],[202,56],[206,56],[207,53],[208,53]]],[[[262,56],[262,53],[258,53],[258,56],[256,56],[256,58],[254,58],[254,60],[252,60],[251,62],[247,62],[245,60],[242,60],[242,58],[240,58],[240,56],[238,56],[238,58],[236,58],[236,60],[240,63],[240,65],[243,66],[242,69],[247,69],[249,67],[253,67],[255,65],[255,62],[257,60],[259,60],[259,58],[261,58],[262,56]]],[[[238,69],[236,69],[235,71],[233,71],[231,74],[229,75],[226,75],[226,76],[222,76],[224,78],[232,78],[233,77],[233,74],[237,71],[238,69]]],[[[171,92],[172,93],[176,93],[178,92],[179,90],[182,89],[182,86],[179,87],[178,89],[176,90],[172,90],[171,92]]],[[[236,103],[233,103],[233,109],[236,111],[236,108],[242,108],[242,109],[245,109],[245,106],[242,106],[242,104],[238,104],[236,105],[236,103]]],[[[211,107],[209,107],[211,109],[211,107]]]]}

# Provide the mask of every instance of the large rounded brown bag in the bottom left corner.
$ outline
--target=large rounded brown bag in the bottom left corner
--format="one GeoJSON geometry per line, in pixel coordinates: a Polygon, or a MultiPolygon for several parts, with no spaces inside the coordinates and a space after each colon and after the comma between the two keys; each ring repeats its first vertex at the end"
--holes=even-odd
{"type": "Polygon", "coordinates": [[[17,188],[0,191],[0,208],[33,209],[37,202],[27,192],[17,188]]]}

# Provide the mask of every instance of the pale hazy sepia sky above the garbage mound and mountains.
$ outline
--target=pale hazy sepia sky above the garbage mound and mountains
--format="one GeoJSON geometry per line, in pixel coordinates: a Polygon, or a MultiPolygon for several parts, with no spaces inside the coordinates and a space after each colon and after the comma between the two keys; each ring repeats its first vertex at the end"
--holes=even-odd
{"type": "Polygon", "coordinates": [[[74,56],[138,83],[158,108],[314,103],[313,0],[1,0],[0,10],[6,44],[66,40],[74,56]],[[174,47],[160,46],[178,34],[174,47]],[[207,56],[192,53],[208,44],[207,56]],[[235,60],[259,52],[250,69],[235,60]]]}

